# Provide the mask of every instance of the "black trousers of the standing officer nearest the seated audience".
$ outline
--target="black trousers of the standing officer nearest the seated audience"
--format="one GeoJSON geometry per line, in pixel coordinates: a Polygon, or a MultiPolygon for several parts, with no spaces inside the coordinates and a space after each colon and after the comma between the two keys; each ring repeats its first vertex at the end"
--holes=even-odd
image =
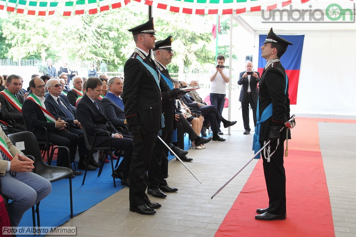
{"type": "Polygon", "coordinates": [[[153,147],[157,140],[157,132],[142,134],[142,142],[133,138],[132,160],[130,166],[130,205],[141,206],[149,199],[146,194],[147,170],[151,162],[153,147]]]}

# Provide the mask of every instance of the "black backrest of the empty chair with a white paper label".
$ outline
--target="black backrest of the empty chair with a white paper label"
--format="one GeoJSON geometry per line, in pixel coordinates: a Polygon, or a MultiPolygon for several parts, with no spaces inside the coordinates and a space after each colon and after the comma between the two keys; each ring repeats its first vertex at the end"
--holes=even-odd
{"type": "Polygon", "coordinates": [[[42,166],[47,166],[47,164],[42,159],[40,147],[38,146],[36,137],[35,135],[33,135],[33,133],[29,131],[25,131],[21,133],[9,134],[7,136],[9,137],[12,144],[14,144],[15,146],[17,142],[23,142],[22,145],[24,149],[22,149],[21,152],[23,152],[23,154],[25,155],[30,155],[35,158],[36,161],[35,173],[36,173],[36,169],[42,166]]]}

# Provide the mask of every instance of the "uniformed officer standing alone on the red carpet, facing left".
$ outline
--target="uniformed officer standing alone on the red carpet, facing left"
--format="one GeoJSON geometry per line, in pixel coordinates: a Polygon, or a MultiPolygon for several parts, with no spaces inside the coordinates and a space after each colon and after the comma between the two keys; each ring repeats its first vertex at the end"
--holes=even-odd
{"type": "MultiPolygon", "coordinates": [[[[259,86],[257,103],[257,122],[253,148],[260,150],[266,141],[271,141],[268,148],[263,150],[263,171],[265,174],[268,193],[268,207],[257,209],[257,220],[285,220],[286,219],[286,173],[283,167],[284,140],[286,130],[282,129],[283,123],[289,119],[288,76],[284,70],[281,56],[286,52],[288,45],[286,39],[277,36],[273,30],[268,32],[266,41],[263,42],[262,58],[265,66],[259,86]]],[[[288,138],[290,139],[290,138],[288,138]]]]}

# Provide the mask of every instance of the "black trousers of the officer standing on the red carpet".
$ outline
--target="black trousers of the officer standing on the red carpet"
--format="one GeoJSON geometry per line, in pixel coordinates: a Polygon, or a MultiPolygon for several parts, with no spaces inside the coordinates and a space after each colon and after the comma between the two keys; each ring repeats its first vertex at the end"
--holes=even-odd
{"type": "MultiPolygon", "coordinates": [[[[261,146],[263,145],[263,141],[261,146]]],[[[276,150],[277,141],[271,143],[271,153],[276,150]]],[[[274,215],[286,214],[286,171],[283,166],[284,141],[280,141],[276,152],[267,162],[262,151],[263,172],[269,198],[268,212],[274,215]]]]}

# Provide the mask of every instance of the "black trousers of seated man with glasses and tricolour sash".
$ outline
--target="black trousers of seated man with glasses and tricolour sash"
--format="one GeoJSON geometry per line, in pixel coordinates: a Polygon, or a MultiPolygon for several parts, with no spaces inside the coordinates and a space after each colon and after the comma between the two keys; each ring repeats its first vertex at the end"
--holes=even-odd
{"type": "MultiPolygon", "coordinates": [[[[35,136],[37,141],[46,141],[46,136],[43,133],[40,133],[40,135],[35,133],[35,136]]],[[[48,132],[48,141],[57,146],[67,147],[70,153],[70,163],[74,161],[79,142],[79,136],[77,134],[56,129],[54,132],[48,132]]],[[[65,149],[58,149],[57,166],[69,168],[68,153],[65,149]]]]}

